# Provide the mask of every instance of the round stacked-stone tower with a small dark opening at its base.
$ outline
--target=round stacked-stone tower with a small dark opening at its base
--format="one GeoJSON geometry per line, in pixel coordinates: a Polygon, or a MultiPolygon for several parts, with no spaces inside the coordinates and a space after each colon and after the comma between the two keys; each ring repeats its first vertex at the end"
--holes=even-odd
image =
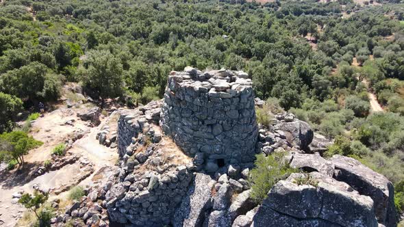
{"type": "Polygon", "coordinates": [[[246,72],[186,67],[171,72],[160,125],[208,172],[254,160],[257,123],[246,72]]]}

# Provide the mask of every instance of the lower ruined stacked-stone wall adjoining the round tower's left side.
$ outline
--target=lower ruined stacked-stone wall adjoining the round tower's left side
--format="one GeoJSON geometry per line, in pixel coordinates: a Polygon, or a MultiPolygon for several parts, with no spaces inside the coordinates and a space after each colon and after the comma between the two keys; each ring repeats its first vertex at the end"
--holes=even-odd
{"type": "Polygon", "coordinates": [[[121,168],[116,183],[105,186],[105,206],[113,223],[169,224],[188,191],[192,159],[162,136],[156,124],[162,101],[123,111],[118,120],[121,168]]]}

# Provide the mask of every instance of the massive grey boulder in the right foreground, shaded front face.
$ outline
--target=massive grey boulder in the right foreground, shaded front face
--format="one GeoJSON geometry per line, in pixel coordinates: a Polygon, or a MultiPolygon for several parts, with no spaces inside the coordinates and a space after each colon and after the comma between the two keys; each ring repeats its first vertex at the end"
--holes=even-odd
{"type": "Polygon", "coordinates": [[[292,174],[270,190],[253,226],[377,227],[373,200],[343,184],[318,173],[292,174]]]}

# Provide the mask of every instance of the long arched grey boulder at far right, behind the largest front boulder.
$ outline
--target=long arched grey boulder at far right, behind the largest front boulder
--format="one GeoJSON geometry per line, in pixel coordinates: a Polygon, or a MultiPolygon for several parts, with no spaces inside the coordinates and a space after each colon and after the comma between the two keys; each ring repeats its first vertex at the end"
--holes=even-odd
{"type": "Polygon", "coordinates": [[[394,187],[388,179],[370,170],[359,161],[334,155],[330,161],[336,166],[336,179],[343,181],[375,202],[377,220],[385,226],[397,223],[394,206],[394,187]]]}

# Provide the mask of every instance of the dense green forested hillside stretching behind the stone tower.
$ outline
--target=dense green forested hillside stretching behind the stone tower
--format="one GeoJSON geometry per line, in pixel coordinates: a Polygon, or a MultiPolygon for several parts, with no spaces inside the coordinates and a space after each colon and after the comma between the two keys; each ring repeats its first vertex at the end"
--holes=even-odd
{"type": "Polygon", "coordinates": [[[0,5],[0,132],[68,82],[129,106],[162,98],[171,70],[244,70],[283,108],[387,176],[404,209],[404,3],[351,0],[59,1],[0,5]],[[383,111],[370,108],[375,94],[383,111]]]}

